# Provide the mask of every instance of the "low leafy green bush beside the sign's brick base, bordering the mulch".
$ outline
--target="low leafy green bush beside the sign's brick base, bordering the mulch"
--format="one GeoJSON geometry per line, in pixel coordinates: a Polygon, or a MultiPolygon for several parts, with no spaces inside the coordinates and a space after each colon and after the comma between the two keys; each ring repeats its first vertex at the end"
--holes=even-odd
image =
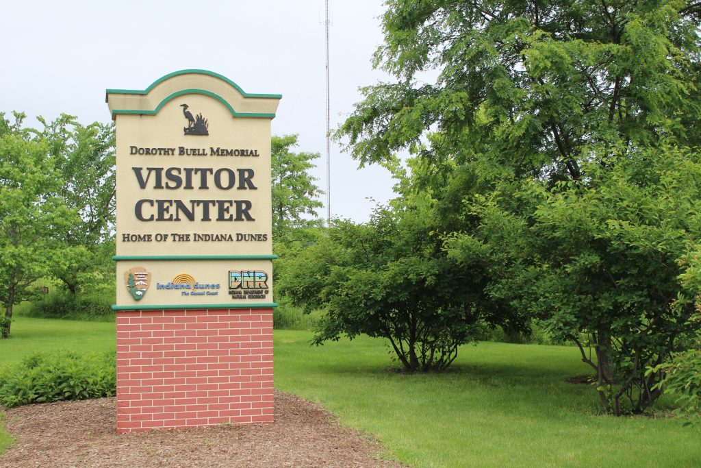
{"type": "Polygon", "coordinates": [[[115,393],[114,352],[33,354],[0,370],[0,403],[7,408],[29,403],[101,398],[115,393]]]}

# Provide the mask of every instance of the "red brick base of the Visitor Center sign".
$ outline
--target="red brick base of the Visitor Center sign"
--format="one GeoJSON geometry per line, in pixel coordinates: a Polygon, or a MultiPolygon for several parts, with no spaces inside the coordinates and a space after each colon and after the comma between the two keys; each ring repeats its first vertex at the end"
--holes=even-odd
{"type": "Polygon", "coordinates": [[[273,422],[273,309],[117,312],[117,432],[273,422]]]}

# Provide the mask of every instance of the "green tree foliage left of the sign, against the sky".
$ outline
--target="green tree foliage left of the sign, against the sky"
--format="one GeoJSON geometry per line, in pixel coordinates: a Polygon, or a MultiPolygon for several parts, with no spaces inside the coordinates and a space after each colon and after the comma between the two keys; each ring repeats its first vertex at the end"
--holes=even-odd
{"type": "Polygon", "coordinates": [[[104,246],[114,222],[114,126],[62,115],[39,117],[37,131],[14,115],[0,114],[0,302],[8,317],[42,276],[76,293],[98,265],[111,269],[104,246]]]}

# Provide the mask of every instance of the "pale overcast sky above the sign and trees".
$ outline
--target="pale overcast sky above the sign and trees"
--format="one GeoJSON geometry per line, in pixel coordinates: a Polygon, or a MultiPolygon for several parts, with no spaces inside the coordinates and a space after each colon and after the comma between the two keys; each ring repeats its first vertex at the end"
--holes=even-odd
{"type": "MultiPolygon", "coordinates": [[[[6,1],[0,112],[107,122],[105,89],[145,89],[180,69],[207,69],[247,93],[282,94],[273,134],[299,134],[318,152],[326,187],[324,0],[6,1]]],[[[372,69],[382,0],[331,2],[331,126],[360,100],[358,87],[388,79],[372,69]]],[[[388,173],[331,149],[332,215],[362,222],[393,196],[388,173]]],[[[326,199],[324,197],[323,201],[326,199]]],[[[320,210],[325,216],[326,210],[320,210]]]]}

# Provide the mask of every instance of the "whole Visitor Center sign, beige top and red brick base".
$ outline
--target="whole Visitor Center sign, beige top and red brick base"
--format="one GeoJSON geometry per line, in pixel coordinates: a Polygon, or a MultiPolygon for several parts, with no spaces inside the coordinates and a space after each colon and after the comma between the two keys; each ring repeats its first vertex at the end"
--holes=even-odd
{"type": "Polygon", "coordinates": [[[272,422],[271,119],[205,70],[108,89],[118,431],[272,422]]]}

